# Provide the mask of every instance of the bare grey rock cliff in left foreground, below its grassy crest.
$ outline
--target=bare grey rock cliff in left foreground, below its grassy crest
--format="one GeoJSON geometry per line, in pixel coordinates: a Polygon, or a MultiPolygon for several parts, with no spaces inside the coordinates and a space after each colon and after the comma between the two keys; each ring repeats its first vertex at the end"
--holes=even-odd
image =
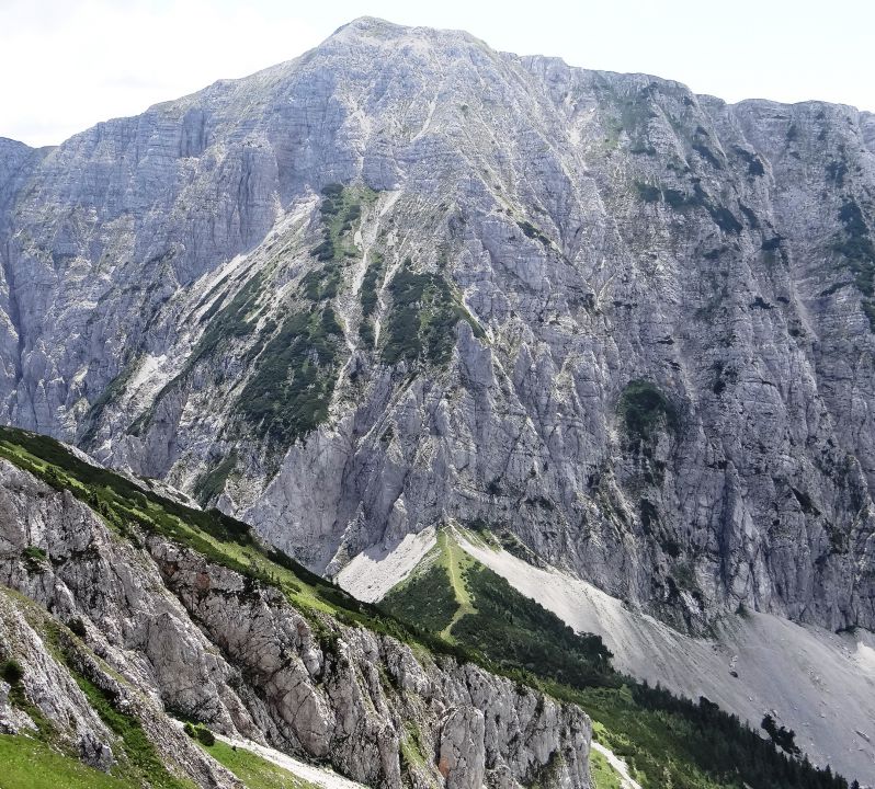
{"type": "MultiPolygon", "coordinates": [[[[203,787],[239,784],[168,712],[366,786],[589,787],[579,708],[328,615],[305,618],[279,591],[164,539],[143,535],[136,547],[69,492],[0,460],[0,659],[10,658],[33,707],[103,769],[118,758],[115,739],[76,675],[203,787]]],[[[0,731],[26,730],[32,718],[9,691],[0,682],[0,731]]]]}

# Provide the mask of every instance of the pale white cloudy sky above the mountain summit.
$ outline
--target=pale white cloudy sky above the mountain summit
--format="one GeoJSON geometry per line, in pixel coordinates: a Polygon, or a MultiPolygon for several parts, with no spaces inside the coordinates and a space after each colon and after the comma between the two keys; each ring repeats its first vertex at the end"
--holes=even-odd
{"type": "Polygon", "coordinates": [[[363,15],[731,102],[875,111],[875,0],[0,0],[0,137],[57,145],[289,60],[363,15]]]}

